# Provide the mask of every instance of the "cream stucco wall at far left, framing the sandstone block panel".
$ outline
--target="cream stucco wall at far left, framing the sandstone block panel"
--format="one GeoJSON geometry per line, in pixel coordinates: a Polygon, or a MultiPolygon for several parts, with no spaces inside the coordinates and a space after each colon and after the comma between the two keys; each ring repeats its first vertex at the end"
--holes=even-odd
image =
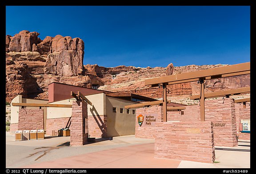
{"type": "MultiPolygon", "coordinates": [[[[47,100],[36,100],[22,98],[22,95],[17,95],[11,102],[11,124],[18,123],[19,120],[19,109],[20,106],[12,106],[12,103],[37,103],[37,104],[47,104],[47,100]]],[[[27,109],[39,109],[39,107],[26,107],[27,109]]],[[[47,108],[42,107],[44,110],[44,130],[46,130],[46,118],[47,118],[47,108]]]]}

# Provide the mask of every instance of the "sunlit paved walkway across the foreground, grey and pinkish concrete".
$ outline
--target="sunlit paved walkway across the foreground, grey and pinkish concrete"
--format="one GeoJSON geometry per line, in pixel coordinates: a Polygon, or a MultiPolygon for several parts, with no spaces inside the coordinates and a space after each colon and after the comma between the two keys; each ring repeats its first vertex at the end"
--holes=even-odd
{"type": "Polygon", "coordinates": [[[6,168],[250,168],[250,142],[216,147],[216,162],[154,158],[154,139],[134,135],[69,146],[69,137],[15,141],[6,134],[6,168]]]}

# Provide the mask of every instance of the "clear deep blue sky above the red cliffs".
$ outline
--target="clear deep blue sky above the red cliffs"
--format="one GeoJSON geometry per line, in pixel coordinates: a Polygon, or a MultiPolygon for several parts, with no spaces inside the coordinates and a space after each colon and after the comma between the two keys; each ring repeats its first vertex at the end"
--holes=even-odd
{"type": "Polygon", "coordinates": [[[250,62],[249,6],[6,6],[6,35],[84,40],[84,65],[250,62]]]}

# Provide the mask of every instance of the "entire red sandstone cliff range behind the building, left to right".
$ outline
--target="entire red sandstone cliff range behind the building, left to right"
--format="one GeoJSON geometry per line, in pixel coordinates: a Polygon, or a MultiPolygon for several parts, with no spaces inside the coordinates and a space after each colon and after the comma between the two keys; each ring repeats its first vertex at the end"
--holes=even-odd
{"type": "MultiPolygon", "coordinates": [[[[6,35],[6,101],[10,102],[17,94],[24,97],[48,99],[47,86],[53,81],[98,89],[136,93],[160,99],[162,88],[144,86],[147,78],[205,70],[227,65],[134,67],[102,67],[83,65],[84,42],[69,36],[47,36],[44,40],[39,33],[20,31],[6,35]]],[[[205,81],[205,92],[220,91],[250,86],[250,75],[225,77],[205,81]]],[[[168,85],[170,97],[188,98],[199,93],[197,82],[168,85]]]]}

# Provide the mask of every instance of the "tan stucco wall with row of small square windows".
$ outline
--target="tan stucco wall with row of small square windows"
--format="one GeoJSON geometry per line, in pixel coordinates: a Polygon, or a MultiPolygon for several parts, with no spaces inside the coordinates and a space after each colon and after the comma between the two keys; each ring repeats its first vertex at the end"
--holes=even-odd
{"type": "Polygon", "coordinates": [[[106,97],[106,112],[108,117],[108,136],[121,136],[135,134],[135,117],[136,109],[130,109],[130,113],[126,113],[125,105],[136,104],[136,102],[125,101],[114,97],[106,97]],[[113,107],[116,112],[113,112],[113,107]],[[123,108],[123,113],[120,113],[123,108]],[[135,114],[132,114],[135,110],[135,114]]]}

